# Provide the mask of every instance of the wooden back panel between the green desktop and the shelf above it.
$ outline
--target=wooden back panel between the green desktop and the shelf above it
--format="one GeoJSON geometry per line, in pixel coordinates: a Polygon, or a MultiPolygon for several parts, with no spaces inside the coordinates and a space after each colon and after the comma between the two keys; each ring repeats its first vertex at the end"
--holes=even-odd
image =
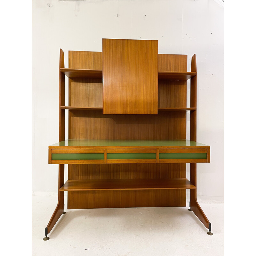
{"type": "Polygon", "coordinates": [[[68,139],[184,140],[186,112],[104,115],[100,111],[69,110],[68,129],[68,139]]]}

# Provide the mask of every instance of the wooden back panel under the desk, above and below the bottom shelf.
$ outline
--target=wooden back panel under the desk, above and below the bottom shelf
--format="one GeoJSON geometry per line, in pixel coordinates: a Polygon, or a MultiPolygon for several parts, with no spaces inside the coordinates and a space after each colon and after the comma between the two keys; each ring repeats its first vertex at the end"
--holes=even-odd
{"type": "MultiPolygon", "coordinates": [[[[69,164],[68,170],[69,180],[180,178],[186,178],[186,164],[69,164]]],[[[186,190],[94,191],[93,197],[90,191],[68,191],[68,209],[157,206],[186,206],[186,190]]]]}

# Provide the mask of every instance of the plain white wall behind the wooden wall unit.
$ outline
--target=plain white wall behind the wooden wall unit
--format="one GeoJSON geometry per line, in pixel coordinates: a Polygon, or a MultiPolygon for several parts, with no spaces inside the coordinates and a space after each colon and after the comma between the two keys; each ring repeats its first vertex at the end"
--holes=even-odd
{"type": "Polygon", "coordinates": [[[211,163],[197,164],[197,193],[222,199],[223,2],[33,0],[32,8],[33,191],[57,192],[58,166],[48,164],[48,146],[59,137],[60,48],[68,67],[68,50],[102,51],[102,38],[154,39],[159,41],[159,53],[188,54],[188,70],[196,53],[197,141],[211,146],[211,163]]]}

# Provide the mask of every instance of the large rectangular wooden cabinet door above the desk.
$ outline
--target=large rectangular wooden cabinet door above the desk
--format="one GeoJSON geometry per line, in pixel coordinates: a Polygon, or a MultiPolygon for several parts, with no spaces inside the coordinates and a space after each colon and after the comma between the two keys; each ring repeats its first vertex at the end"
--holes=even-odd
{"type": "Polygon", "coordinates": [[[103,114],[157,114],[158,41],[102,39],[103,114]]]}

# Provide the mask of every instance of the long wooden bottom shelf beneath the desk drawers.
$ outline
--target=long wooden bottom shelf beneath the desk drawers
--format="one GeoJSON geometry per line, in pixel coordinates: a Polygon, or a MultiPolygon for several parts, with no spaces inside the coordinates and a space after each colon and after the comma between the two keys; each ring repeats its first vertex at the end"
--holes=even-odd
{"type": "Polygon", "coordinates": [[[187,179],[111,179],[67,180],[60,191],[76,190],[144,190],[144,189],[193,189],[187,179]]]}

